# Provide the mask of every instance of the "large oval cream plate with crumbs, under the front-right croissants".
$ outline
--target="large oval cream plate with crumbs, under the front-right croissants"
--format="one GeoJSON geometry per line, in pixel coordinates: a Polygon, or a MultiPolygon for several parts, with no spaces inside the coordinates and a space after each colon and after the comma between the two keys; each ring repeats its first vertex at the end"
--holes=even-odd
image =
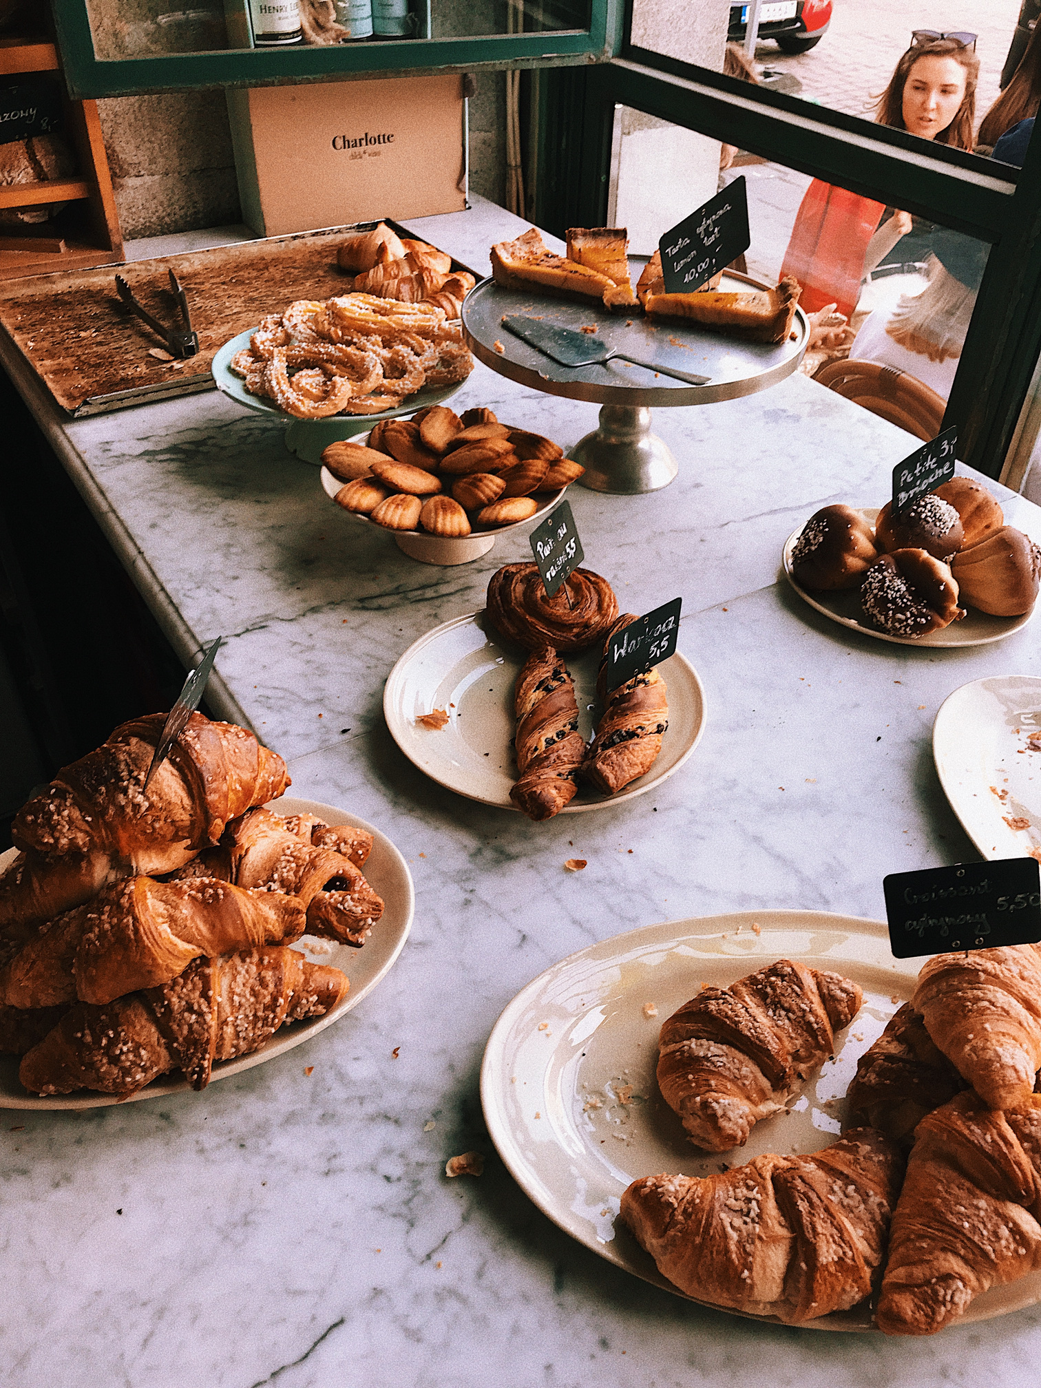
{"type": "MultiPolygon", "coordinates": [[[[708,1176],[723,1160],[733,1166],[762,1152],[827,1146],[838,1134],[841,1097],[858,1058],[911,997],[916,974],[915,960],[890,954],[884,924],[815,911],[740,912],[615,936],[547,969],[496,1023],[480,1072],[489,1133],[514,1178],[554,1223],[608,1262],[680,1296],[616,1221],[625,1188],[659,1171],[708,1176]],[[701,1153],[658,1097],[658,1030],[702,983],[731,984],[781,958],[856,980],[863,1008],[794,1112],[759,1123],[744,1148],[701,1153]],[[647,1004],[657,1016],[644,1016],[647,1004]],[[630,1085],[622,1103],[619,1091],[630,1085]]],[[[1038,1301],[1041,1273],[1031,1273],[977,1298],[960,1323],[1038,1301]]],[[[869,1330],[870,1320],[855,1307],[802,1328],[869,1330]]]]}

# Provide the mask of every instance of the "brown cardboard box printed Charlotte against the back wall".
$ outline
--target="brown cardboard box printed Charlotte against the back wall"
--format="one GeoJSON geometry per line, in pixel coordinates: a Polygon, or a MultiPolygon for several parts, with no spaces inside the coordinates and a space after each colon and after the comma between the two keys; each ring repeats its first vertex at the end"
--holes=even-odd
{"type": "Polygon", "coordinates": [[[462,76],[229,90],[243,221],[261,236],[458,212],[462,76]]]}

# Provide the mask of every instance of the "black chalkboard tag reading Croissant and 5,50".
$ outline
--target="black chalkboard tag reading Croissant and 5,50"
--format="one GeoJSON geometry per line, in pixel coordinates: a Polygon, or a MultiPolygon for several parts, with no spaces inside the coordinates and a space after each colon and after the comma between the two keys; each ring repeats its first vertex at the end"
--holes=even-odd
{"type": "Polygon", "coordinates": [[[897,959],[1041,940],[1041,872],[1034,858],[895,872],[883,879],[883,890],[897,959]]]}

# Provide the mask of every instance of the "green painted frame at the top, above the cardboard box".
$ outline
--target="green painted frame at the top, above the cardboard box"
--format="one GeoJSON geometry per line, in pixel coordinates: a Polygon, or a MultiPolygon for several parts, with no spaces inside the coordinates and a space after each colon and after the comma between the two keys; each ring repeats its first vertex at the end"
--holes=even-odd
{"type": "Polygon", "coordinates": [[[589,29],[99,58],[86,0],[54,3],[65,81],[69,94],[81,100],[192,87],[273,86],[354,76],[604,62],[619,50],[622,15],[622,0],[591,0],[589,29]]]}

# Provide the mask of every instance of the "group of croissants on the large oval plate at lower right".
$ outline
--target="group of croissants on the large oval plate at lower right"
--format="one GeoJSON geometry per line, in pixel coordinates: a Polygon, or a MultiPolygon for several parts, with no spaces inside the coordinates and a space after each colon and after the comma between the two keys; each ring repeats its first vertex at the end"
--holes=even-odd
{"type": "MultiPolygon", "coordinates": [[[[723,1152],[784,1112],[861,1008],[836,973],[781,959],[702,985],[661,1030],[658,1085],[723,1152]]],[[[805,1156],[650,1176],[620,1217],[687,1295],[802,1323],[874,1301],[930,1335],[1041,1269],[1041,945],[938,955],[861,1056],[848,1124],[805,1156]]]]}

